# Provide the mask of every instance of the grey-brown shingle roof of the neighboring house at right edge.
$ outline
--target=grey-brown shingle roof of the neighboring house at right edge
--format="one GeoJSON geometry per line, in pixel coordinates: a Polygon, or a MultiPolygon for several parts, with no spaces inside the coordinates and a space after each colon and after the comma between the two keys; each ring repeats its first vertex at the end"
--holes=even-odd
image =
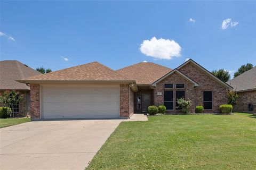
{"type": "Polygon", "coordinates": [[[246,91],[256,89],[256,67],[238,75],[227,82],[236,91],[246,91]]]}

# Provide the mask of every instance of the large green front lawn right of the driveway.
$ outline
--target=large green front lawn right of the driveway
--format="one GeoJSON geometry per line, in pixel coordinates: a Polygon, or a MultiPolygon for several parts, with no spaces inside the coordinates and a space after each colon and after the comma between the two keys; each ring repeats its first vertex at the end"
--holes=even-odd
{"type": "Polygon", "coordinates": [[[256,169],[256,116],[148,119],[119,124],[86,169],[256,169]]]}

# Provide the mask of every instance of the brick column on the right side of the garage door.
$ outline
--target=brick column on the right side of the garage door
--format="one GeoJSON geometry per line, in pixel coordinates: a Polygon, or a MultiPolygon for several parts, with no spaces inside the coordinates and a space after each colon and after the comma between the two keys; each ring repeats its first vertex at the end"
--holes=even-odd
{"type": "Polygon", "coordinates": [[[129,84],[120,84],[120,117],[129,117],[129,84]]]}

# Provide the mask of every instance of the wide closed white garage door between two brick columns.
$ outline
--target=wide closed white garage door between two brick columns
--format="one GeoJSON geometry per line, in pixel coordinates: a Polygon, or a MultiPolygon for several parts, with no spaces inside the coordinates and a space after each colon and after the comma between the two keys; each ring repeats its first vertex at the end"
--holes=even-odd
{"type": "Polygon", "coordinates": [[[41,116],[118,118],[119,86],[41,86],[41,116]]]}

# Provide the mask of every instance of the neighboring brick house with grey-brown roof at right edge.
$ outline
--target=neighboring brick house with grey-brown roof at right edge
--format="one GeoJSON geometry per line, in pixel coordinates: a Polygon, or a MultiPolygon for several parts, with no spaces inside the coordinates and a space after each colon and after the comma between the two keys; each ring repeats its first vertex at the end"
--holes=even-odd
{"type": "Polygon", "coordinates": [[[227,82],[237,92],[235,112],[256,113],[256,67],[227,82]],[[250,107],[250,105],[252,105],[250,107]],[[250,109],[252,108],[252,110],[250,109]]]}

